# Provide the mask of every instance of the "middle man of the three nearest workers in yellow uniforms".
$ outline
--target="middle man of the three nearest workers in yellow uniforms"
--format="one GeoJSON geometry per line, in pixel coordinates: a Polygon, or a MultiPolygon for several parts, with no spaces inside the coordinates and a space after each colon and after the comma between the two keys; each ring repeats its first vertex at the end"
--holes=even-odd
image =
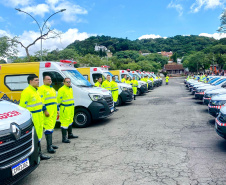
{"type": "Polygon", "coordinates": [[[52,79],[49,75],[43,77],[43,84],[44,85],[38,88],[38,92],[41,95],[42,102],[47,111],[44,116],[44,134],[47,142],[47,151],[49,153],[55,153],[56,151],[54,149],[58,149],[58,147],[52,145],[52,134],[55,128],[58,112],[56,91],[51,86],[52,79]]]}

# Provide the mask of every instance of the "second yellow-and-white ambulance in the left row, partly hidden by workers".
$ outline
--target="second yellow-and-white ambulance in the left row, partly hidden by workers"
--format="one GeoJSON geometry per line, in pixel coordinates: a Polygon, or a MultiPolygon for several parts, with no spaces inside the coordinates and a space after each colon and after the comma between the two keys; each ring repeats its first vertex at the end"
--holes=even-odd
{"type": "MultiPolygon", "coordinates": [[[[108,66],[101,67],[85,67],[77,68],[77,70],[92,84],[94,85],[98,78],[101,77],[103,81],[107,78],[107,75],[110,75],[111,80],[113,74],[108,70],[108,66]]],[[[125,83],[120,83],[116,78],[116,82],[119,87],[119,98],[117,105],[120,106],[126,102],[131,102],[133,100],[133,89],[132,86],[125,83]]],[[[102,88],[100,88],[102,89],[102,88]]]]}

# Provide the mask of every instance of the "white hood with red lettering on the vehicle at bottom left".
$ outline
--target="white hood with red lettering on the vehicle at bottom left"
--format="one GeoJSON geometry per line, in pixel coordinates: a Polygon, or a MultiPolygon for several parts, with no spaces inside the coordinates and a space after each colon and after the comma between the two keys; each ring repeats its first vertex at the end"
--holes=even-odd
{"type": "Polygon", "coordinates": [[[8,101],[0,101],[0,130],[10,129],[11,123],[18,125],[31,119],[30,112],[8,101]]]}

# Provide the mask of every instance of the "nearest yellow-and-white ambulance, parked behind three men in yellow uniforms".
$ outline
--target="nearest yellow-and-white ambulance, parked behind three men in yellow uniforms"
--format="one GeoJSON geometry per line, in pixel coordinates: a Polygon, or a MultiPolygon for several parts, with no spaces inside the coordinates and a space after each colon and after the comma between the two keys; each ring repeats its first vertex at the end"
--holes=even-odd
{"type": "Polygon", "coordinates": [[[74,124],[76,127],[87,127],[92,120],[110,116],[113,111],[111,93],[100,88],[93,88],[74,68],[75,62],[29,62],[0,65],[0,98],[19,104],[23,89],[28,86],[27,77],[36,74],[39,86],[43,85],[43,76],[52,78],[52,86],[56,91],[63,85],[65,77],[71,78],[75,101],[74,124]]]}

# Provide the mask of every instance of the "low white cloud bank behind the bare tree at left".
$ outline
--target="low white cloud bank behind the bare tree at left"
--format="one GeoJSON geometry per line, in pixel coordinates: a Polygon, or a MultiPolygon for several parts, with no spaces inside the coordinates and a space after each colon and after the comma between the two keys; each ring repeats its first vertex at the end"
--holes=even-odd
{"type": "MultiPolygon", "coordinates": [[[[60,32],[59,30],[56,30],[60,32]]],[[[5,30],[0,30],[0,36],[9,36],[13,37],[11,33],[8,33],[5,30]]],[[[34,32],[34,31],[24,31],[22,35],[19,35],[19,40],[23,43],[23,45],[27,46],[29,45],[32,41],[34,41],[36,38],[40,36],[39,32],[34,32]]],[[[86,32],[79,32],[78,29],[68,29],[66,32],[62,33],[60,38],[55,38],[55,39],[47,39],[43,40],[43,49],[48,49],[50,51],[58,48],[58,49],[64,49],[67,47],[69,44],[74,42],[75,40],[85,40],[90,36],[96,36],[96,34],[89,34],[86,32]]],[[[51,34],[49,35],[51,37],[51,34]]],[[[40,41],[37,41],[35,45],[31,46],[29,49],[29,53],[32,55],[37,51],[40,51],[40,41]]],[[[18,45],[18,50],[19,56],[26,56],[25,49],[22,48],[21,46],[18,45]]]]}

